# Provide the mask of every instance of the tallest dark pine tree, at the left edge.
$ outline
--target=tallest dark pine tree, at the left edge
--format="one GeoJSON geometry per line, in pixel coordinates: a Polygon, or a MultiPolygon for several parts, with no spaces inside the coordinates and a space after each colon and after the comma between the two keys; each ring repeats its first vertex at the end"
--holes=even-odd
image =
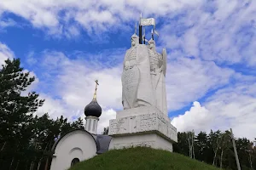
{"type": "Polygon", "coordinates": [[[32,114],[44,104],[36,92],[23,95],[34,81],[35,77],[20,67],[20,59],[5,60],[0,70],[0,149],[2,156],[5,153],[11,159],[10,166],[29,144],[32,114]]]}

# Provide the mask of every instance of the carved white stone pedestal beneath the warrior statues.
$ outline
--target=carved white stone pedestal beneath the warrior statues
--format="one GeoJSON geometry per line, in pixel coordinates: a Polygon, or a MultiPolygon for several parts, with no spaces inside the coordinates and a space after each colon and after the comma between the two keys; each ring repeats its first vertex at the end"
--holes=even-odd
{"type": "Polygon", "coordinates": [[[113,137],[109,150],[148,146],[172,151],[172,143],[177,142],[176,127],[154,106],[117,112],[116,119],[110,120],[108,135],[113,137]]]}

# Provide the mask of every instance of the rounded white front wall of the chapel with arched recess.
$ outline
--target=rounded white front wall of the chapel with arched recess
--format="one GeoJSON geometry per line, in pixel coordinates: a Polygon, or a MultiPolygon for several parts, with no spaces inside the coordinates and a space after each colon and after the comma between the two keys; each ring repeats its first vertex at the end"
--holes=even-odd
{"type": "Polygon", "coordinates": [[[80,161],[96,156],[96,143],[93,137],[84,131],[67,133],[55,148],[50,170],[65,170],[71,166],[73,158],[80,161]]]}

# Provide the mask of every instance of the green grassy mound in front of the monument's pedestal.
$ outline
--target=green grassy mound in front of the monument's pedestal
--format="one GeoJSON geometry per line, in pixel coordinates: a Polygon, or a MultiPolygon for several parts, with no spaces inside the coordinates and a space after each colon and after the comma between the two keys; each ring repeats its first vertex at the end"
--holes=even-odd
{"type": "Polygon", "coordinates": [[[69,170],[219,170],[201,161],[165,150],[137,147],[110,150],[87,161],[81,161],[69,170]]]}

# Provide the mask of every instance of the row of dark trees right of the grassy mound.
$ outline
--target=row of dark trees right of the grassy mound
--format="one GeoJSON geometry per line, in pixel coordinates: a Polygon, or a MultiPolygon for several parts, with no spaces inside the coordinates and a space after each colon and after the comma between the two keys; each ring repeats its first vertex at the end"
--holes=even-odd
{"type": "MultiPolygon", "coordinates": [[[[255,139],[256,140],[256,139],[255,139]]],[[[246,138],[235,139],[242,170],[256,169],[256,147],[246,138]]],[[[230,131],[210,133],[177,133],[177,144],[173,150],[184,156],[207,162],[216,167],[236,170],[236,158],[230,131]]]]}

